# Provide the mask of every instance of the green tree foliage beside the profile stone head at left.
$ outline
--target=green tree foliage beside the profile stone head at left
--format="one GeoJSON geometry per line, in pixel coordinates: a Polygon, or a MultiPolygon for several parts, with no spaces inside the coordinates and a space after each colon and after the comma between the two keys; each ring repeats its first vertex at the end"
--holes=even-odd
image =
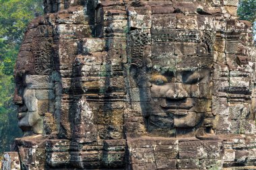
{"type": "Polygon", "coordinates": [[[22,136],[12,103],[13,68],[26,27],[42,8],[42,0],[0,0],[0,155],[22,136]]]}

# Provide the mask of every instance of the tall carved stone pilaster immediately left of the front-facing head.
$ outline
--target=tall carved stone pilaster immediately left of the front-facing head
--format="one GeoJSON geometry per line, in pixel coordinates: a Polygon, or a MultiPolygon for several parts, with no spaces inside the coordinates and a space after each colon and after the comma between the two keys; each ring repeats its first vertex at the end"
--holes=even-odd
{"type": "Polygon", "coordinates": [[[124,167],[125,136],[124,105],[125,71],[127,63],[128,32],[127,13],[123,1],[101,1],[96,10],[96,24],[104,37],[106,54],[103,55],[100,77],[100,98],[103,106],[98,113],[99,143],[103,143],[102,163],[104,167],[124,167]]]}

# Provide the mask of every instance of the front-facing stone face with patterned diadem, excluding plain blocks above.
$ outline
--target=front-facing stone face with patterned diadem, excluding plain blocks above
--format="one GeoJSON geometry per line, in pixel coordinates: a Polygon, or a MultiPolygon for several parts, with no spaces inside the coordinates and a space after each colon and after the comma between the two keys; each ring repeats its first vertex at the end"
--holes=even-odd
{"type": "Polygon", "coordinates": [[[139,87],[148,131],[173,136],[177,129],[201,127],[205,114],[211,112],[214,34],[163,28],[152,29],[151,37],[131,31],[130,37],[132,45],[141,43],[143,49],[136,54],[139,50],[131,46],[131,57],[140,55],[141,59],[131,59],[130,74],[139,87]],[[138,34],[144,38],[138,40],[138,34]]]}

